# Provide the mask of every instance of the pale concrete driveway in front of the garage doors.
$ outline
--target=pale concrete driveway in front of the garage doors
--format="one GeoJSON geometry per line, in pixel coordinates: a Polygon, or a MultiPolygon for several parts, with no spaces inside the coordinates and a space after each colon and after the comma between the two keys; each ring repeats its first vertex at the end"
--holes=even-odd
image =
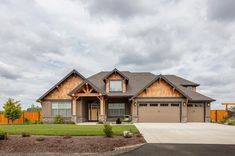
{"type": "Polygon", "coordinates": [[[214,123],[136,123],[147,143],[235,144],[235,126],[214,123]]]}

